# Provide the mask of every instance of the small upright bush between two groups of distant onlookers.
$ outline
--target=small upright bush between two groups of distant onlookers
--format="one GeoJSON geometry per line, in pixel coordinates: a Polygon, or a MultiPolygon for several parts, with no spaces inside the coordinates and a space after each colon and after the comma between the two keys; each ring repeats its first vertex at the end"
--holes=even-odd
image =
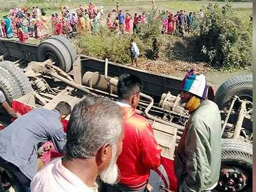
{"type": "Polygon", "coordinates": [[[146,12],[147,22],[138,24],[138,32],[143,39],[159,36],[161,31],[161,17],[157,15],[158,8],[146,12]]]}

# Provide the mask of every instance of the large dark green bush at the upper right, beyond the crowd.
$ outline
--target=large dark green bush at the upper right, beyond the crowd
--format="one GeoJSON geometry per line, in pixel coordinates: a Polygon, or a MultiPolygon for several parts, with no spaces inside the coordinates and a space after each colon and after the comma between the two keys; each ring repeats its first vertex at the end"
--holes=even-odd
{"type": "MultiPolygon", "coordinates": [[[[249,20],[249,18],[248,18],[249,20]]],[[[201,54],[216,68],[246,68],[252,65],[252,26],[226,5],[208,10],[200,23],[201,54]]]]}

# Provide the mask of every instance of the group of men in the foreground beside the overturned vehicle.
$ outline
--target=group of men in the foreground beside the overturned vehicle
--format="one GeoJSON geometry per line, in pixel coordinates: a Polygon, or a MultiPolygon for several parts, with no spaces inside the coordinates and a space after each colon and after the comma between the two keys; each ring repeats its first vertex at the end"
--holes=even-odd
{"type": "MultiPolygon", "coordinates": [[[[34,109],[5,127],[0,131],[0,167],[15,191],[152,191],[150,170],[163,163],[162,149],[152,124],[136,110],[141,92],[138,77],[121,74],[118,101],[85,97],[72,111],[61,101],[55,109],[34,109]],[[65,134],[60,120],[70,113],[65,134]],[[49,141],[65,153],[38,168],[38,155],[50,148],[42,144],[49,141]]],[[[204,74],[190,70],[180,94],[190,120],[176,148],[174,171],[168,175],[172,184],[178,180],[177,191],[209,192],[218,182],[221,118],[207,93],[204,74]]],[[[8,104],[1,91],[0,103],[8,104]]],[[[9,111],[18,116],[13,113],[9,111]]]]}

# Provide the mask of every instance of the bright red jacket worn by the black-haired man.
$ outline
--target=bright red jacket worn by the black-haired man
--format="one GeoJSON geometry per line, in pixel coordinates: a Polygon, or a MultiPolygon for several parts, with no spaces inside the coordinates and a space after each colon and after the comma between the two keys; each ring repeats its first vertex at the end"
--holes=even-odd
{"type": "Polygon", "coordinates": [[[136,113],[135,109],[122,107],[124,115],[124,139],[118,158],[120,183],[125,186],[145,185],[150,169],[160,164],[159,151],[153,135],[153,129],[147,120],[136,113]]]}

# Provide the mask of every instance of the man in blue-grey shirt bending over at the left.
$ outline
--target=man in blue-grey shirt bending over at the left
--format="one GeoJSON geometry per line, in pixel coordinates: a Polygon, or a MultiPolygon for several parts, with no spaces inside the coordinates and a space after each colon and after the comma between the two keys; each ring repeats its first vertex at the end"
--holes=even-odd
{"type": "Polygon", "coordinates": [[[69,113],[71,106],[61,101],[53,110],[32,110],[0,132],[0,167],[15,176],[15,191],[30,191],[40,144],[52,141],[58,152],[64,150],[66,136],[60,120],[69,113]]]}

